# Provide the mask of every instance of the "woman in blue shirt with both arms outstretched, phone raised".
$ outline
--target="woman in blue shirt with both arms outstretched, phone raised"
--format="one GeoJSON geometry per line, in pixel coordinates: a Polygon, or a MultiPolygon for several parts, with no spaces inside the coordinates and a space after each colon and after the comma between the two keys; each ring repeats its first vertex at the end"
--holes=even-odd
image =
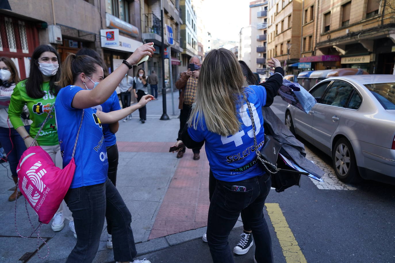
{"type": "Polygon", "coordinates": [[[92,107],[107,101],[126,72],[143,56],[152,56],[154,48],[147,43],[135,50],[113,73],[103,79],[103,69],[90,56],[70,54],[63,71],[56,97],[56,124],[63,157],[63,167],[75,149],[75,173],[64,200],[73,213],[77,244],[66,262],[92,262],[98,250],[104,217],[112,222],[114,257],[119,262],[149,263],[134,260],[136,248],[130,228],[132,216],[122,197],[107,177],[108,157],[102,123],[114,123],[153,99],[145,95],[139,103],[112,112],[92,107]],[[79,127],[81,127],[79,129],[79,127]],[[78,133],[79,132],[79,133],[78,133]]]}

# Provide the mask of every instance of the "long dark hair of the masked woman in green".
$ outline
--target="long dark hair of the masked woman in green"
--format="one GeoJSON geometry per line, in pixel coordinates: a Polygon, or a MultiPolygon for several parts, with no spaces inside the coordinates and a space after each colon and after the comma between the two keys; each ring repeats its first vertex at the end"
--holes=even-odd
{"type": "Polygon", "coordinates": [[[41,85],[43,84],[43,75],[38,67],[38,59],[44,52],[52,52],[58,58],[59,68],[55,75],[49,77],[49,92],[52,95],[57,95],[60,87],[55,84],[60,77],[60,59],[59,54],[55,48],[49,45],[40,45],[33,51],[32,58],[30,60],[30,73],[26,80],[26,94],[34,99],[44,97],[45,92],[42,90],[41,85]]]}

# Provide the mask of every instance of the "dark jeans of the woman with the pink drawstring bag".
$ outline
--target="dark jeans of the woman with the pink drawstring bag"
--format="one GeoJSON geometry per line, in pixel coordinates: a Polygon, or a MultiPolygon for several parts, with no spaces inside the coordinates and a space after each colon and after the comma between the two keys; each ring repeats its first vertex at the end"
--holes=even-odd
{"type": "Polygon", "coordinates": [[[70,188],[64,197],[73,213],[77,244],[66,263],[90,263],[99,248],[104,216],[112,222],[115,261],[133,261],[136,256],[132,215],[109,179],[99,185],[70,188]]]}

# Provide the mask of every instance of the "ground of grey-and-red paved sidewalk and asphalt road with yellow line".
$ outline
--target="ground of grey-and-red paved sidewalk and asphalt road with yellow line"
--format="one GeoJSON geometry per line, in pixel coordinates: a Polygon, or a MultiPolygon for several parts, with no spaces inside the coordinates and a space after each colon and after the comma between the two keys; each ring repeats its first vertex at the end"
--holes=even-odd
{"type": "MultiPolygon", "coordinates": [[[[187,150],[182,159],[168,153],[179,129],[178,93],[174,93],[176,115],[171,115],[171,98],[167,95],[169,121],[159,120],[162,99],[147,106],[147,123],[138,122],[138,113],[126,123],[120,122],[117,144],[120,151],[117,188],[132,213],[132,229],[137,243],[137,258],[156,262],[212,262],[207,243],[201,241],[207,226],[208,162],[205,154],[192,160],[187,150]]],[[[286,103],[275,99],[272,106],[284,120],[286,103]]],[[[395,187],[365,181],[359,185],[340,183],[331,168],[331,159],[308,142],[308,157],[325,172],[325,183],[317,184],[302,177],[301,188],[285,192],[272,190],[264,211],[271,231],[275,262],[394,262],[395,187]]],[[[0,187],[0,262],[64,262],[75,244],[68,224],[53,232],[43,225],[41,236],[50,254],[42,260],[34,252],[37,239],[18,237],[14,227],[14,203],[8,202],[12,181],[1,168],[0,187]]],[[[8,171],[9,173],[9,171],[8,171]]],[[[35,226],[37,216],[30,216],[35,226]]],[[[67,222],[67,220],[66,220],[67,222]]],[[[24,198],[18,199],[17,224],[22,235],[32,232],[26,217],[24,198]]],[[[229,237],[231,247],[242,231],[238,222],[229,237]]],[[[94,262],[113,262],[112,250],[105,248],[106,231],[94,262]]],[[[236,262],[253,262],[253,246],[236,262]]],[[[40,241],[40,256],[47,248],[40,241]]]]}

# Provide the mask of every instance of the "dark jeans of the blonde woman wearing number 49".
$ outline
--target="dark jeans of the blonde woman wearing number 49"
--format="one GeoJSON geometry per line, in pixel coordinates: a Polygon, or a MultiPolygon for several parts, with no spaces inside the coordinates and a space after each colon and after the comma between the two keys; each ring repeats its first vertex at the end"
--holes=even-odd
{"type": "Polygon", "coordinates": [[[228,236],[242,210],[251,226],[256,261],[273,262],[271,237],[263,217],[263,206],[270,186],[271,177],[266,174],[238,182],[216,181],[207,222],[207,241],[214,263],[234,262],[228,236]],[[244,186],[246,191],[232,191],[232,185],[244,186]]]}

